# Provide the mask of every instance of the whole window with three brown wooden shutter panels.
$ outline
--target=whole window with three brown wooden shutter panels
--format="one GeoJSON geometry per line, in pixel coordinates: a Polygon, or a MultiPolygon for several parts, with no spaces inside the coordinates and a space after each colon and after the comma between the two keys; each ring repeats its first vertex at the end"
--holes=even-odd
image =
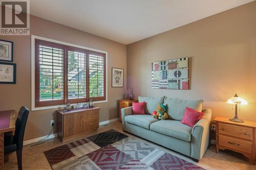
{"type": "Polygon", "coordinates": [[[105,53],[35,39],[35,107],[106,100],[105,53]]]}

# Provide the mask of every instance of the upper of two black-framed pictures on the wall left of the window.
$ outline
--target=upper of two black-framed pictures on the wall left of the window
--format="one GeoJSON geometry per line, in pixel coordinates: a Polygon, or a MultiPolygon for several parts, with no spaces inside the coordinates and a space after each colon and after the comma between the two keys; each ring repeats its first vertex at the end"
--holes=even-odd
{"type": "Polygon", "coordinates": [[[13,62],[13,42],[0,40],[0,60],[13,62]]]}

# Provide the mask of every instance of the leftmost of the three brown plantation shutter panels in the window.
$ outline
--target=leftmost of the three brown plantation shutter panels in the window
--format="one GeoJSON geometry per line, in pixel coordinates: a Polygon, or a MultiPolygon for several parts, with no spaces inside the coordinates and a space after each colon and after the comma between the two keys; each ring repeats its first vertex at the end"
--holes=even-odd
{"type": "Polygon", "coordinates": [[[64,50],[62,45],[36,41],[37,105],[54,105],[65,99],[64,50]]]}

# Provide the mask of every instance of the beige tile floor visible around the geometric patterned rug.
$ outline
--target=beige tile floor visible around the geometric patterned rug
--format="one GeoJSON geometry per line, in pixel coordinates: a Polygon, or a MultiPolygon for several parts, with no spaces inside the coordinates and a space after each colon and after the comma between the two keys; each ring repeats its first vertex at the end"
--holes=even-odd
{"type": "MultiPolygon", "coordinates": [[[[110,129],[114,129],[116,131],[122,132],[122,126],[119,122],[111,123],[107,126],[100,126],[100,128],[97,131],[91,132],[90,134],[87,134],[86,136],[91,136],[96,133],[104,132],[110,129]]],[[[189,157],[186,157],[184,155],[181,155],[175,151],[160,147],[158,144],[152,143],[150,141],[144,140],[142,138],[139,138],[137,136],[134,136],[129,133],[125,133],[128,136],[132,136],[136,139],[142,140],[143,142],[147,144],[153,145],[153,147],[158,148],[160,150],[163,150],[167,153],[173,154],[175,156],[178,156],[182,159],[185,159],[189,162],[192,162],[194,164],[197,164],[205,169],[221,169],[221,170],[236,170],[236,169],[248,169],[256,170],[256,166],[251,164],[251,161],[247,158],[245,158],[243,155],[232,152],[232,151],[220,151],[219,154],[215,152],[215,145],[210,145],[210,147],[206,150],[203,158],[199,161],[199,163],[194,162],[189,157]]],[[[84,136],[85,137],[85,136],[84,136]]],[[[69,142],[75,141],[77,139],[71,140],[69,142]]],[[[66,142],[66,143],[69,143],[66,142]]],[[[23,169],[24,170],[46,170],[51,169],[45,155],[44,151],[47,151],[49,149],[58,147],[62,144],[60,140],[57,138],[49,139],[45,144],[38,145],[36,147],[31,148],[30,145],[27,145],[23,149],[23,169]]],[[[17,168],[17,159],[16,154],[13,153],[10,155],[9,162],[5,163],[5,170],[16,170],[17,168]]]]}

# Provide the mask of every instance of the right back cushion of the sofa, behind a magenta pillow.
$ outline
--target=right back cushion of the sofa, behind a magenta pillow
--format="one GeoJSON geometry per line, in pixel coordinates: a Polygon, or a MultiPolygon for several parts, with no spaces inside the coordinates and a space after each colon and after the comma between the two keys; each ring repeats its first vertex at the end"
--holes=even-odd
{"type": "Polygon", "coordinates": [[[167,98],[164,100],[164,103],[167,104],[168,110],[168,118],[174,120],[182,119],[186,107],[195,109],[199,112],[202,111],[203,100],[181,100],[181,99],[170,99],[167,98]]]}

